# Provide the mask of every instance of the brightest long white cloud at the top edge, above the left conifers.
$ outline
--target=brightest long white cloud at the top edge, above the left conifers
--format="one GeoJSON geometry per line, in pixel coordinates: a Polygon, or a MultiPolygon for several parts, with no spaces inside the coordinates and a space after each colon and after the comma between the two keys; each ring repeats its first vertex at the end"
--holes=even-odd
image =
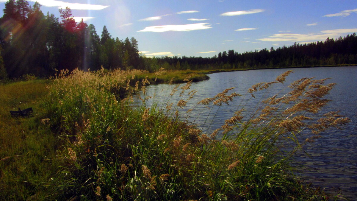
{"type": "Polygon", "coordinates": [[[59,9],[65,9],[69,7],[72,10],[102,10],[109,6],[95,5],[95,4],[78,4],[78,3],[68,3],[64,1],[57,0],[29,0],[33,2],[39,2],[41,5],[46,7],[57,7],[59,9]]]}

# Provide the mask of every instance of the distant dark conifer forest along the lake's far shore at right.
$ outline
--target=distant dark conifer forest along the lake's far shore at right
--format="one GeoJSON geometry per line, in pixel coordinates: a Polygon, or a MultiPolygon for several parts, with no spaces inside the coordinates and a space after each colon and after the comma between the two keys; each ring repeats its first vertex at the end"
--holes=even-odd
{"type": "Polygon", "coordinates": [[[220,52],[210,57],[160,57],[157,63],[169,69],[279,68],[357,64],[356,33],[308,44],[295,43],[277,49],[237,53],[220,52]]]}

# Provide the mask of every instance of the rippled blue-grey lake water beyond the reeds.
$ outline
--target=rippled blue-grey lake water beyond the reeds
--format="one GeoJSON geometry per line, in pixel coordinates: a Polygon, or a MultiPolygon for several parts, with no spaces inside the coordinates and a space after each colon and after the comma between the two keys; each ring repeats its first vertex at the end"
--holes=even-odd
{"type": "MultiPolygon", "coordinates": [[[[226,88],[236,87],[231,92],[246,94],[247,89],[259,82],[271,82],[286,70],[293,70],[284,85],[277,84],[262,93],[279,92],[291,82],[303,77],[315,77],[316,79],[331,78],[327,83],[337,83],[334,89],[326,98],[333,100],[321,113],[341,110],[340,114],[349,117],[352,122],[343,130],[333,129],[321,133],[322,137],[311,145],[305,147],[310,156],[297,156],[297,161],[306,167],[303,177],[313,185],[319,185],[327,191],[335,192],[338,188],[341,193],[352,200],[357,199],[357,67],[323,67],[323,68],[296,68],[296,69],[269,69],[269,70],[249,70],[240,72],[213,73],[211,79],[198,83],[192,83],[191,89],[196,89],[195,94],[185,109],[180,112],[186,114],[187,109],[194,108],[190,117],[181,116],[182,120],[187,120],[203,132],[211,133],[224,123],[225,119],[232,117],[233,113],[242,106],[247,110],[246,116],[255,111],[255,106],[261,99],[253,99],[250,95],[236,97],[229,105],[215,107],[211,112],[203,106],[197,106],[197,102],[203,98],[213,97],[226,88]],[[207,118],[208,116],[208,118],[207,118]]],[[[170,92],[175,85],[159,84],[150,85],[147,95],[152,99],[147,101],[147,107],[152,107],[152,102],[157,103],[157,107],[165,108],[166,103],[173,102],[173,106],[179,99],[180,89],[174,96],[170,92]]],[[[191,90],[190,89],[190,90],[191,90]]],[[[230,92],[229,92],[230,93],[230,92]]],[[[187,92],[186,92],[187,94],[187,92]]],[[[138,94],[141,95],[142,94],[138,94]]],[[[185,100],[187,96],[184,96],[185,100]]],[[[134,97],[135,103],[139,104],[139,99],[134,97]]]]}

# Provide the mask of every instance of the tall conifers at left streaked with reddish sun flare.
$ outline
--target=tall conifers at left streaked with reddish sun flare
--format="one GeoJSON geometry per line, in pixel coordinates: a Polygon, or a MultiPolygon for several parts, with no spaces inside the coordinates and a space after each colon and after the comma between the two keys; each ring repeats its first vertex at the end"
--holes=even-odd
{"type": "Polygon", "coordinates": [[[60,9],[60,19],[44,15],[41,5],[9,0],[0,18],[0,79],[24,74],[38,77],[55,70],[142,68],[137,41],[120,40],[106,26],[101,36],[93,24],[77,23],[70,8],[60,9]]]}

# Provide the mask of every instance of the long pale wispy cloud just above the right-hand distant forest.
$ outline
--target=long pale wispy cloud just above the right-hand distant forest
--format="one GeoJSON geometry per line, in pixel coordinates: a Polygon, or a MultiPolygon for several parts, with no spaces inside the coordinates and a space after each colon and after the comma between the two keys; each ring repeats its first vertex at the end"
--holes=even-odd
{"type": "Polygon", "coordinates": [[[357,32],[355,29],[333,29],[320,31],[317,34],[274,34],[269,38],[260,38],[261,41],[310,41],[310,40],[325,40],[326,38],[337,38],[341,34],[357,32]]]}

